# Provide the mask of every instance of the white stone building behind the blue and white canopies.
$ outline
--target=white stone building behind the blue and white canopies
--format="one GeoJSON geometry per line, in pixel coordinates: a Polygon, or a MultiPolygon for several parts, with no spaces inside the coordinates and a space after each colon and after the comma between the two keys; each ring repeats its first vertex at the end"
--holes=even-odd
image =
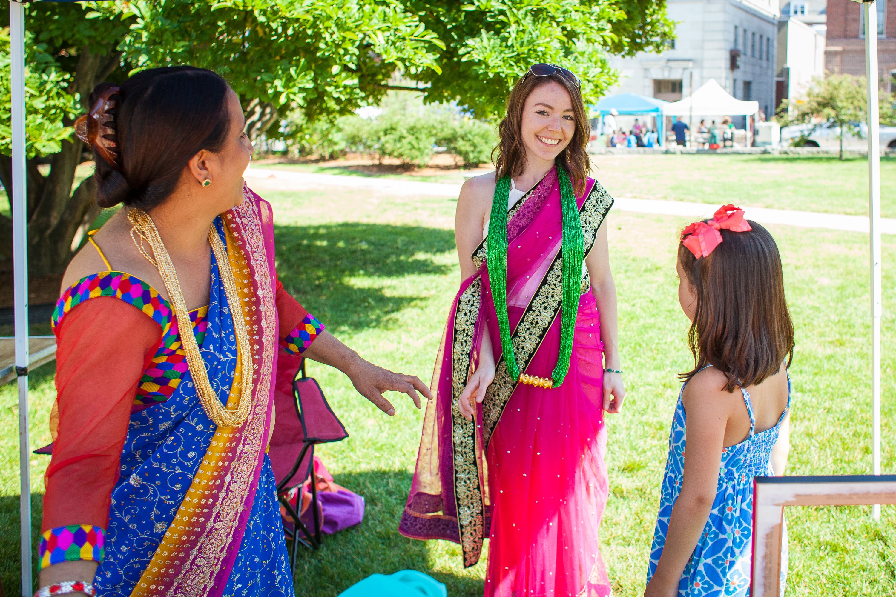
{"type": "MultiPolygon", "coordinates": [[[[896,2],[896,0],[892,0],[896,2]]],[[[662,54],[614,56],[621,72],[610,93],[676,101],[715,79],[737,99],[775,108],[775,51],[780,0],[668,0],[676,41],[662,54]]],[[[736,120],[743,125],[744,117],[736,120]]]]}

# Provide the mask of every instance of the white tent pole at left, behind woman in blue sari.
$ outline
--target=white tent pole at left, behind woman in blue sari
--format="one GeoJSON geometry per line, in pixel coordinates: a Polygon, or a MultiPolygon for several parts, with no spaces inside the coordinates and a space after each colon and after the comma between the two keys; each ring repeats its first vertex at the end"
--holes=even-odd
{"type": "Polygon", "coordinates": [[[31,480],[28,441],[28,228],[25,203],[25,6],[9,3],[10,90],[13,101],[13,294],[15,303],[15,371],[19,385],[20,524],[22,526],[22,595],[30,595],[31,480]]]}

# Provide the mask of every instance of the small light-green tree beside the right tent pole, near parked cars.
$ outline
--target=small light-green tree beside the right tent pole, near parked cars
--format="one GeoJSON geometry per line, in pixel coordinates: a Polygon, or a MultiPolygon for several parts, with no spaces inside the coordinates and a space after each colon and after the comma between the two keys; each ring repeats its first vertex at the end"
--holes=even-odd
{"type": "MultiPolygon", "coordinates": [[[[880,93],[879,121],[896,124],[892,94],[880,93]]],[[[852,134],[859,139],[865,136],[867,124],[868,94],[865,77],[849,74],[829,74],[817,77],[802,98],[790,99],[779,109],[781,126],[806,125],[806,138],[825,124],[838,129],[840,159],[843,159],[843,136],[852,134]]]]}

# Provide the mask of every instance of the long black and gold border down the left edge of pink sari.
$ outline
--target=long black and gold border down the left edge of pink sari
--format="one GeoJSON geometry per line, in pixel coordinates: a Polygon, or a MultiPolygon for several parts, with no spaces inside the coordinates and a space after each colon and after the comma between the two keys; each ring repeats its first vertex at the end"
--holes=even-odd
{"type": "Polygon", "coordinates": [[[458,299],[454,313],[452,342],[452,448],[454,453],[454,505],[461,534],[463,565],[479,561],[485,537],[485,507],[479,486],[476,458],[476,419],[467,421],[461,414],[458,399],[470,378],[473,335],[479,315],[482,280],[476,278],[458,299]]]}

